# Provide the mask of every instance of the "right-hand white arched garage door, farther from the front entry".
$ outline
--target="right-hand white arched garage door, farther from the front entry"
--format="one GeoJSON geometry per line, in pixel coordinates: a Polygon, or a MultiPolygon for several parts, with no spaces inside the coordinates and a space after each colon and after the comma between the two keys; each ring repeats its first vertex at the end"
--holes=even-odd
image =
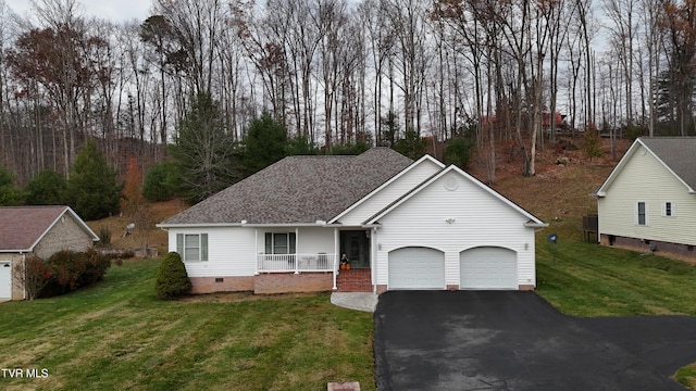
{"type": "Polygon", "coordinates": [[[459,254],[460,289],[518,289],[518,256],[512,250],[481,247],[459,254]]]}

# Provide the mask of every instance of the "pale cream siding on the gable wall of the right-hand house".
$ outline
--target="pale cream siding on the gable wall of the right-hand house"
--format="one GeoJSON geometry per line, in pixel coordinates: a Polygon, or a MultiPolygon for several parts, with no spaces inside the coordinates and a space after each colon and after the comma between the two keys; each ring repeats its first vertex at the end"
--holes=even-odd
{"type": "Polygon", "coordinates": [[[636,151],[626,159],[606,195],[597,200],[599,234],[696,245],[696,195],[652,153],[636,151]],[[646,204],[645,226],[637,224],[637,202],[646,204]],[[664,215],[666,202],[672,205],[672,216],[651,216],[652,211],[664,215]]]}

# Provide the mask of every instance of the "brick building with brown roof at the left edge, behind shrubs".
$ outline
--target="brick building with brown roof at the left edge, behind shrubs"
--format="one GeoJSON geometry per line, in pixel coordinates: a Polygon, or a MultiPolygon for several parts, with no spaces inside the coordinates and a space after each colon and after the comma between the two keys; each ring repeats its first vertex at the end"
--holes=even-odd
{"type": "Polygon", "coordinates": [[[86,251],[99,237],[70,206],[0,207],[0,300],[23,300],[24,260],[86,251]]]}

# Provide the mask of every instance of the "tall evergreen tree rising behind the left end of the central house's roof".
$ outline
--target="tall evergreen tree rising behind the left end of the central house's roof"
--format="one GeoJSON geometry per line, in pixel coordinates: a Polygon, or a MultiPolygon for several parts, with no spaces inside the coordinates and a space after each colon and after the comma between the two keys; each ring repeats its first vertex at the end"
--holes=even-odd
{"type": "Polygon", "coordinates": [[[170,155],[181,171],[181,189],[189,202],[198,202],[238,179],[235,143],[227,135],[217,102],[199,93],[190,112],[178,124],[170,155]]]}

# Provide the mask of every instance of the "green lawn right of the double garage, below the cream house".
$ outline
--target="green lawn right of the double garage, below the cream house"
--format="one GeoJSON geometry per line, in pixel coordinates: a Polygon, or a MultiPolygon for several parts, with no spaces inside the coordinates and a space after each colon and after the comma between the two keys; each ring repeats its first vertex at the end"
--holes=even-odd
{"type": "Polygon", "coordinates": [[[537,293],[574,316],[696,315],[696,267],[637,252],[537,242],[537,293]]]}

